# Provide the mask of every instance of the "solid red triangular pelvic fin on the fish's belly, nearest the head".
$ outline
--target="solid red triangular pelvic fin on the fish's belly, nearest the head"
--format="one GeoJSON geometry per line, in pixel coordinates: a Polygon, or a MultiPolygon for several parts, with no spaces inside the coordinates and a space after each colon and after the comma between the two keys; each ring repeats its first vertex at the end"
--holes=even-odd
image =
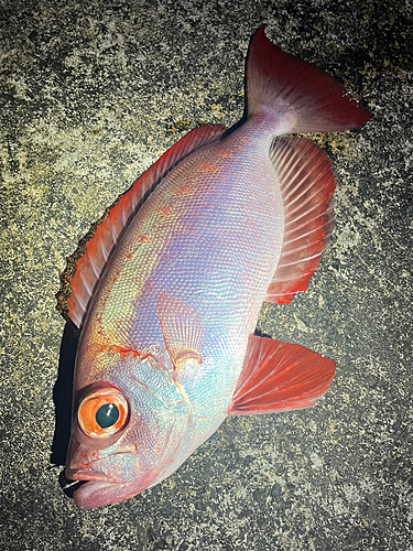
{"type": "Polygon", "coordinates": [[[251,335],[230,415],[311,408],[329,389],[336,364],[304,346],[251,335]]]}

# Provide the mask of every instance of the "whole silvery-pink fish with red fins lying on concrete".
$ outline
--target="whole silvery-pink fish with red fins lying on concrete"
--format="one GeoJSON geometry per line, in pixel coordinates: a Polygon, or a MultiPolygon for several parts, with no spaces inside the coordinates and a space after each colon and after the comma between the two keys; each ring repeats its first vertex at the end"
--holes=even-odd
{"type": "Polygon", "coordinates": [[[309,408],[334,380],[333,359],[254,329],[263,302],[307,290],[334,229],[333,164],[296,134],[371,115],[264,29],[241,121],[184,136],[72,258],[65,307],[80,338],[65,476],[83,510],[160,484],[229,415],[309,408]]]}

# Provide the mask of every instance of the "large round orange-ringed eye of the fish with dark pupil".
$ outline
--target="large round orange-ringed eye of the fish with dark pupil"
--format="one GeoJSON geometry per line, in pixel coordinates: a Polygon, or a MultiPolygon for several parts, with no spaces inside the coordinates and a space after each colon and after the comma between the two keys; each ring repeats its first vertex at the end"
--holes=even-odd
{"type": "Polygon", "coordinates": [[[110,387],[95,390],[81,399],[77,419],[80,429],[93,439],[107,439],[128,422],[129,406],[120,390],[110,387]]]}

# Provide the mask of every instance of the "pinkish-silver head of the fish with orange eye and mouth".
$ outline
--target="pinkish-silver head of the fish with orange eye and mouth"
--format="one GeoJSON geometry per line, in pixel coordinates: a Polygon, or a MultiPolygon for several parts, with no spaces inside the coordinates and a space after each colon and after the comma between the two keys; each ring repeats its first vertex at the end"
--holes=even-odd
{"type": "Polygon", "coordinates": [[[123,501],[157,484],[181,464],[189,425],[173,371],[152,357],[99,359],[107,367],[75,392],[66,460],[66,478],[83,480],[74,493],[80,509],[123,501]]]}

